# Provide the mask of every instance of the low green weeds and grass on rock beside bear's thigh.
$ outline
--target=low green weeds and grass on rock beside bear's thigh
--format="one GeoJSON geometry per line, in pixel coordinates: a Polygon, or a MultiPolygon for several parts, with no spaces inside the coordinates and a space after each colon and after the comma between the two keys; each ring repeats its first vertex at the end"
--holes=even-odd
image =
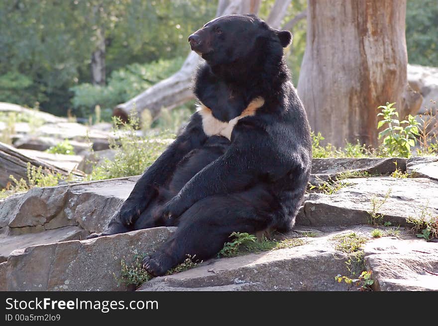
{"type": "Polygon", "coordinates": [[[234,257],[253,252],[262,252],[276,249],[285,249],[305,244],[303,239],[293,238],[281,241],[269,240],[262,237],[259,241],[249,233],[232,232],[232,241],[225,242],[223,248],[218,252],[218,257],[234,257]]]}

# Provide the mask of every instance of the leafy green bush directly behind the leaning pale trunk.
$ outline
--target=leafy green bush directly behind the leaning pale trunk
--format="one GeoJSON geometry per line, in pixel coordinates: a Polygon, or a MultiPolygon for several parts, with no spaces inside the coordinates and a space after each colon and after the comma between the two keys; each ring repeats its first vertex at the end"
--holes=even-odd
{"type": "Polygon", "coordinates": [[[102,108],[102,118],[110,116],[112,108],[128,101],[150,86],[177,72],[184,59],[158,60],[147,64],[134,63],[115,70],[109,77],[107,86],[80,84],[71,88],[74,93],[73,108],[79,116],[88,117],[96,106],[102,108]],[[109,113],[108,113],[109,112],[109,113]]]}

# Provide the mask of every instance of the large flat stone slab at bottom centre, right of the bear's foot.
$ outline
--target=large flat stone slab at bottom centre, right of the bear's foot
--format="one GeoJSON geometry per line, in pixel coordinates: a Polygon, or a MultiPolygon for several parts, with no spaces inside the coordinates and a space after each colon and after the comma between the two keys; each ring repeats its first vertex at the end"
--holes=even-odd
{"type": "Polygon", "coordinates": [[[156,277],[137,291],[345,291],[334,276],[347,275],[347,255],[334,249],[335,234],[303,238],[303,245],[212,259],[191,270],[156,277]]]}

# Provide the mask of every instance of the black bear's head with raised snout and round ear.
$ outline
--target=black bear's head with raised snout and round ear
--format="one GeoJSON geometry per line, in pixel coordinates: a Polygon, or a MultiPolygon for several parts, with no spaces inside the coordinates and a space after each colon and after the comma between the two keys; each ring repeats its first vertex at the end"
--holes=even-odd
{"type": "Polygon", "coordinates": [[[283,55],[291,42],[289,31],[270,27],[252,14],[222,16],[189,36],[190,47],[211,66],[253,61],[255,56],[283,55]]]}

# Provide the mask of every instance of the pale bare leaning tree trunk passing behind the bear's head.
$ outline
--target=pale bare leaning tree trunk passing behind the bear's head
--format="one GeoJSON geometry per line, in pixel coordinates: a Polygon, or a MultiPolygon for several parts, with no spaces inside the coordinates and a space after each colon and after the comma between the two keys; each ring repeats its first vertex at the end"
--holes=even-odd
{"type": "MultiPolygon", "coordinates": [[[[257,13],[261,0],[220,0],[219,7],[227,6],[218,16],[238,13],[257,13]]],[[[128,102],[119,104],[113,110],[113,115],[126,120],[132,110],[141,112],[148,109],[153,118],[156,118],[161,109],[172,109],[194,98],[191,90],[192,76],[201,58],[195,52],[191,52],[183,64],[181,70],[171,77],[148,88],[128,102]]]]}

